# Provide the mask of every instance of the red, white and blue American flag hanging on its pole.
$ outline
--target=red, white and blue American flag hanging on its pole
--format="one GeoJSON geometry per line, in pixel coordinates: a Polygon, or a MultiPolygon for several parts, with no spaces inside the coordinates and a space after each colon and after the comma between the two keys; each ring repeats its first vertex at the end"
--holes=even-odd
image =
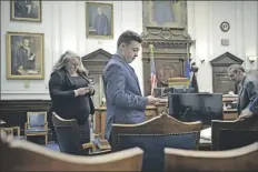
{"type": "Polygon", "coordinates": [[[150,85],[151,85],[150,95],[153,97],[155,88],[157,88],[157,75],[156,75],[156,69],[155,69],[155,57],[153,57],[152,44],[150,44],[150,85]]]}

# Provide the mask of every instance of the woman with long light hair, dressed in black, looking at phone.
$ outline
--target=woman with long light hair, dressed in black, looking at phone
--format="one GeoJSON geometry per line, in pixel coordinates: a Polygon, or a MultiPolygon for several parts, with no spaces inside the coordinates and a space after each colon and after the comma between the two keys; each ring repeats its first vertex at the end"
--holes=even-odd
{"type": "Polygon", "coordinates": [[[49,80],[52,101],[50,113],[56,112],[63,119],[77,119],[80,128],[81,143],[90,142],[90,114],[95,113],[91,95],[95,90],[89,87],[88,71],[81,58],[72,51],[66,51],[53,65],[49,80]]]}

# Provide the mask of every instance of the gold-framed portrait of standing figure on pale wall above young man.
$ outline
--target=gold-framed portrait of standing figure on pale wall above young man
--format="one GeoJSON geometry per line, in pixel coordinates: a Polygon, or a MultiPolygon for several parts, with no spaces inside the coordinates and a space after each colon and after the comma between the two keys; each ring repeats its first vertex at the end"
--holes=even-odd
{"type": "Polygon", "coordinates": [[[112,3],[86,2],[87,38],[113,38],[112,3]]]}

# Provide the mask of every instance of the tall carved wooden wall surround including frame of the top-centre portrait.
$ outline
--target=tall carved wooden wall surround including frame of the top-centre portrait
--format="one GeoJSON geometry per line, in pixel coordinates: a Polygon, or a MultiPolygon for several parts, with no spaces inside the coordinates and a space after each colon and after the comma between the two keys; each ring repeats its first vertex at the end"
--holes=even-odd
{"type": "MultiPolygon", "coordinates": [[[[162,26],[158,24],[157,21],[153,21],[157,18],[152,19],[153,4],[153,1],[142,2],[143,32],[141,33],[141,37],[145,95],[150,94],[150,44],[153,45],[158,78],[157,85],[168,87],[166,78],[183,75],[186,60],[188,55],[190,57],[188,50],[190,49],[190,45],[195,43],[187,30],[187,2],[172,1],[171,11],[173,13],[173,22],[168,20],[168,22],[166,21],[162,26]],[[177,6],[176,9],[175,6],[177,6]],[[169,63],[173,65],[173,68],[171,68],[175,72],[167,72],[165,74],[167,77],[163,78],[161,77],[163,74],[161,67],[169,63]]],[[[158,6],[160,6],[160,3],[158,6]]]]}

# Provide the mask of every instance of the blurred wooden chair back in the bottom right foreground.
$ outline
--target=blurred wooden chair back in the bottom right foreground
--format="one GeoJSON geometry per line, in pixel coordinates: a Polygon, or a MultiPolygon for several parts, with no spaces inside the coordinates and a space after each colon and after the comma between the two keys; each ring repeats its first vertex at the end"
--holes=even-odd
{"type": "Polygon", "coordinates": [[[229,151],[190,151],[166,148],[165,172],[258,171],[258,142],[229,151]]]}

